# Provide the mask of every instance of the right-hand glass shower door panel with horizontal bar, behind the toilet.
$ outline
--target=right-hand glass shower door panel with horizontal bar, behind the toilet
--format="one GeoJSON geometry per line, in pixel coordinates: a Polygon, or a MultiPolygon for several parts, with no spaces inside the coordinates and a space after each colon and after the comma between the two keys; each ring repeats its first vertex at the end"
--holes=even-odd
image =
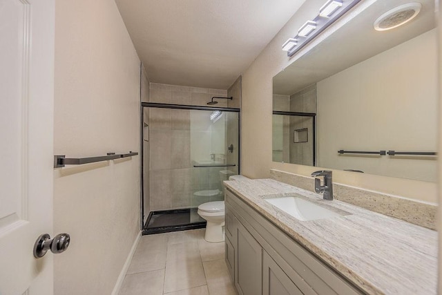
{"type": "Polygon", "coordinates": [[[238,113],[191,111],[191,208],[224,200],[222,181],[238,174],[238,164],[238,113]]]}

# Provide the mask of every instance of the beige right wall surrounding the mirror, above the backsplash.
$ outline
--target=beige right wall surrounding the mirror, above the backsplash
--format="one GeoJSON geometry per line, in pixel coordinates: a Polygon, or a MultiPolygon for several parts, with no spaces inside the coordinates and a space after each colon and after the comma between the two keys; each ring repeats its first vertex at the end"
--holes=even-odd
{"type": "MultiPolygon", "coordinates": [[[[273,40],[262,50],[251,66],[242,75],[242,174],[250,178],[267,178],[269,169],[309,175],[318,167],[271,162],[271,109],[272,77],[287,67],[312,46],[330,35],[334,28],[348,21],[352,15],[343,17],[338,23],[323,32],[292,58],[281,50],[281,45],[293,37],[308,17],[317,15],[323,0],[306,1],[273,40]]],[[[356,10],[369,5],[363,1],[356,10]]],[[[334,180],[343,184],[403,196],[417,200],[437,202],[436,184],[401,178],[388,178],[377,175],[354,175],[345,171],[334,171],[334,180]]]]}

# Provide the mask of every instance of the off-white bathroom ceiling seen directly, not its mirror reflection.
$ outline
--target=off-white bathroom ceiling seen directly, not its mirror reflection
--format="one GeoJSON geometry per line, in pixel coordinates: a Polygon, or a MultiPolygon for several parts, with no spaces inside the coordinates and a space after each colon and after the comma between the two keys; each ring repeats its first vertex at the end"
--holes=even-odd
{"type": "Polygon", "coordinates": [[[115,0],[150,82],[227,89],[305,0],[115,0]]]}

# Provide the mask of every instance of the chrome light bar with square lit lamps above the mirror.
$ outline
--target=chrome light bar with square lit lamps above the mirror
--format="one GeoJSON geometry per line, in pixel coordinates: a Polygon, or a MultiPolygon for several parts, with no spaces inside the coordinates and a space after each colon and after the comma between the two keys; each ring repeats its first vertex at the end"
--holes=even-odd
{"type": "Polygon", "coordinates": [[[288,39],[282,45],[282,50],[287,51],[287,56],[292,57],[302,47],[323,32],[334,21],[339,19],[361,0],[327,0],[319,9],[319,14],[306,21],[298,30],[298,35],[288,39]]]}

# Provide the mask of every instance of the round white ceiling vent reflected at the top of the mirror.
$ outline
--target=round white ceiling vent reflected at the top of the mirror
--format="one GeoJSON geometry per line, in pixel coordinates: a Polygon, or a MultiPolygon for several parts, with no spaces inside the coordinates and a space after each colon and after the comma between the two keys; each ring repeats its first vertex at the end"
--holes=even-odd
{"type": "Polygon", "coordinates": [[[411,21],[421,11],[421,3],[403,4],[385,12],[374,21],[375,30],[391,30],[411,21]]]}

